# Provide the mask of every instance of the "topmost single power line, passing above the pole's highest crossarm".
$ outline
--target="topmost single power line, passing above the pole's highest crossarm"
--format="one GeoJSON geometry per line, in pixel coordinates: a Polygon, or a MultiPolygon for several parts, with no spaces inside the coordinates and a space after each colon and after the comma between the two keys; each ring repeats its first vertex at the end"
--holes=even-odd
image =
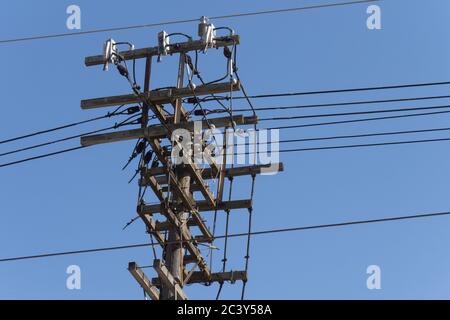
{"type": "MultiPolygon", "coordinates": [[[[229,15],[211,16],[211,17],[209,17],[209,19],[220,20],[220,19],[267,15],[267,14],[275,14],[275,13],[288,13],[288,12],[295,12],[295,11],[330,8],[330,7],[338,7],[338,6],[361,4],[361,3],[370,3],[370,2],[377,2],[377,1],[379,1],[379,0],[350,1],[350,2],[329,3],[329,4],[323,4],[323,5],[314,5],[314,6],[305,6],[305,7],[296,7],[296,8],[275,9],[275,10],[255,11],[255,12],[241,12],[241,13],[234,13],[234,14],[229,14],[229,15]]],[[[95,34],[95,33],[112,32],[112,31],[124,31],[124,30],[132,30],[132,29],[152,28],[152,27],[158,27],[158,26],[167,26],[167,25],[197,22],[198,20],[199,20],[198,18],[182,19],[182,20],[168,20],[168,21],[156,22],[156,23],[131,25],[131,26],[123,26],[123,27],[103,28],[103,29],[93,29],[93,30],[80,31],[80,32],[56,33],[56,34],[48,34],[48,35],[40,35],[40,36],[29,36],[29,37],[22,37],[22,38],[4,39],[4,40],[0,40],[0,44],[31,41],[31,40],[62,38],[62,37],[70,37],[70,36],[81,36],[81,35],[88,35],[88,34],[95,34]]]]}

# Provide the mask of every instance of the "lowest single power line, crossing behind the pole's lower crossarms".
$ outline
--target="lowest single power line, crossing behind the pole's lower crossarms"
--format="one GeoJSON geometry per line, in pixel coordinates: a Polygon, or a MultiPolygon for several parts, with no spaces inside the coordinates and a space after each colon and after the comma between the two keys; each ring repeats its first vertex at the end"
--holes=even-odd
{"type": "MultiPolygon", "coordinates": [[[[346,226],[355,226],[355,225],[364,225],[364,224],[372,224],[372,223],[382,223],[382,222],[393,222],[393,221],[404,221],[404,220],[414,220],[414,219],[424,219],[424,218],[433,218],[433,217],[443,217],[450,215],[450,212],[437,212],[437,213],[425,213],[425,214],[416,214],[416,215],[407,215],[407,216],[397,216],[397,217],[388,217],[388,218],[379,218],[379,219],[368,219],[368,220],[354,220],[354,221],[346,221],[339,223],[329,223],[329,224],[319,224],[319,225],[310,225],[310,226],[300,226],[300,227],[292,227],[292,228],[280,228],[280,229],[270,229],[270,230],[261,230],[261,231],[253,231],[250,234],[252,236],[258,235],[268,235],[268,234],[277,234],[277,233],[288,233],[288,232],[299,232],[299,231],[307,231],[307,230],[316,230],[316,229],[330,229],[330,228],[339,228],[346,226]]],[[[217,239],[228,238],[239,238],[239,237],[247,237],[249,235],[248,232],[245,233],[234,233],[228,234],[227,236],[216,236],[217,239]]],[[[183,242],[187,242],[187,240],[182,240],[183,242]]],[[[192,240],[195,241],[195,240],[192,240]]],[[[170,244],[171,242],[166,242],[170,244]]],[[[180,240],[177,240],[174,243],[180,243],[180,240]]],[[[58,257],[58,256],[66,256],[66,255],[74,255],[74,254],[82,254],[82,253],[96,253],[96,252],[104,252],[104,251],[114,251],[114,250],[124,250],[124,249],[134,249],[134,248],[143,248],[143,247],[152,247],[156,246],[156,243],[139,243],[139,244],[131,244],[131,245],[122,245],[122,246],[110,246],[110,247],[102,247],[102,248],[92,248],[92,249],[84,249],[84,250],[75,250],[75,251],[62,251],[62,252],[54,252],[54,253],[44,253],[44,254],[36,254],[29,256],[18,256],[11,258],[0,259],[0,262],[13,262],[13,261],[21,261],[21,260],[32,260],[32,259],[40,259],[40,258],[49,258],[49,257],[58,257]]]]}

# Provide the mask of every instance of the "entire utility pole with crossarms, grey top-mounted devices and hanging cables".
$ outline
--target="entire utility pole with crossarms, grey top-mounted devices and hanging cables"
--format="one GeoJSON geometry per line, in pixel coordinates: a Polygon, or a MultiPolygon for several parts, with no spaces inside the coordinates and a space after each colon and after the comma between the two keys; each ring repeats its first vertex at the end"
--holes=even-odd
{"type": "MultiPolygon", "coordinates": [[[[137,104],[141,112],[137,120],[125,122],[128,125],[139,125],[138,128],[84,136],[80,142],[83,146],[91,146],[137,140],[130,157],[130,162],[139,158],[136,170],[136,174],[140,175],[137,214],[147,233],[156,240],[155,245],[160,247],[162,256],[155,257],[153,263],[157,277],[148,278],[136,262],[130,262],[128,270],[145,294],[153,300],[186,300],[188,296],[184,287],[187,284],[216,282],[222,286],[225,281],[246,283],[247,266],[242,271],[226,271],[227,239],[221,271],[213,272],[212,257],[208,264],[202,256],[200,245],[207,245],[210,250],[215,248],[212,245],[215,227],[210,229],[202,213],[226,212],[228,234],[231,210],[245,209],[249,214],[253,210],[254,177],[264,172],[283,171],[281,163],[252,163],[249,166],[235,167],[233,161],[227,160],[235,157],[234,149],[230,149],[234,143],[230,145],[228,141],[228,129],[233,128],[234,134],[236,126],[256,127],[258,117],[255,113],[252,116],[233,114],[232,107],[226,108],[222,104],[227,115],[208,118],[202,107],[202,98],[205,96],[214,98],[216,94],[229,94],[232,101],[232,93],[242,89],[239,77],[234,74],[237,70],[235,48],[240,43],[239,36],[230,28],[216,28],[206,16],[200,18],[198,25],[200,39],[193,40],[182,33],[177,35],[184,35],[188,39],[174,43],[170,34],[161,31],[158,34],[158,46],[135,49],[132,44],[125,42],[129,48],[124,51],[119,50],[124,42],[107,40],[103,54],[86,57],[85,64],[103,65],[105,70],[109,69],[110,64],[115,65],[119,73],[129,81],[132,93],[81,101],[81,108],[85,110],[137,104]],[[229,35],[217,36],[219,29],[228,30],[229,35]],[[198,52],[206,52],[212,48],[224,48],[227,74],[218,81],[205,82],[197,69],[198,52]],[[189,56],[190,52],[195,52],[195,62],[189,56]],[[161,61],[161,56],[174,54],[179,55],[175,85],[151,90],[153,57],[158,57],[158,61],[161,61]],[[135,62],[138,59],[146,61],[143,89],[136,83],[134,71],[131,77],[126,66],[126,61],[135,62]],[[199,85],[194,83],[194,77],[200,81],[199,85]],[[188,83],[184,83],[186,79],[188,83]],[[194,101],[196,106],[193,110],[185,108],[185,99],[194,101]],[[194,112],[197,108],[201,112],[194,112]],[[202,118],[194,119],[198,114],[202,118]],[[225,138],[219,143],[213,132],[221,129],[224,130],[225,138]],[[214,139],[211,140],[211,137],[214,139]],[[191,139],[194,141],[189,142],[191,139]],[[200,151],[201,159],[206,161],[198,161],[196,150],[200,151]],[[234,177],[242,176],[252,177],[252,195],[249,199],[232,200],[232,181],[234,177]],[[227,179],[230,192],[228,201],[224,201],[227,179]],[[211,182],[216,184],[215,190],[211,188],[211,182]],[[153,191],[156,204],[145,201],[147,188],[153,191]]],[[[256,140],[254,145],[256,146],[256,140]]],[[[212,252],[210,255],[212,256],[212,252]]],[[[246,259],[248,261],[248,253],[246,259]]]]}

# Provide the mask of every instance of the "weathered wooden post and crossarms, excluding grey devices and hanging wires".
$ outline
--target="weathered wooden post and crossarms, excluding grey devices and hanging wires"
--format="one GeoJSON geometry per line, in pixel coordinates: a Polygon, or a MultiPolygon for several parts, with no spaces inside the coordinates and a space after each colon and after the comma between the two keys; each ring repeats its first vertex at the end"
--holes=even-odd
{"type": "MultiPolygon", "coordinates": [[[[212,30],[212,29],[211,29],[212,30]]],[[[163,33],[165,36],[165,33],[163,33]]],[[[191,51],[205,48],[221,48],[239,44],[239,36],[229,35],[215,37],[210,43],[205,40],[167,44],[165,51],[170,55],[179,54],[178,75],[175,88],[150,90],[152,59],[161,55],[161,45],[152,48],[133,49],[118,52],[119,63],[126,60],[146,59],[145,81],[143,91],[113,97],[102,97],[81,101],[82,109],[104,108],[117,105],[140,103],[142,117],[140,128],[115,131],[105,134],[84,136],[83,146],[101,143],[142,139],[153,153],[160,166],[149,167],[140,163],[140,187],[149,187],[156,196],[158,204],[142,201],[137,213],[150,233],[163,250],[162,260],[156,259],[153,267],[158,275],[148,278],[138,264],[130,262],[128,270],[146,294],[154,300],[187,299],[183,287],[191,283],[224,281],[247,281],[246,271],[218,272],[210,270],[198,248],[200,243],[211,244],[214,236],[205,223],[201,212],[226,211],[231,209],[251,208],[251,199],[222,201],[225,178],[237,176],[254,176],[263,170],[282,171],[282,164],[252,165],[226,168],[226,163],[219,165],[209,162],[209,167],[199,168],[189,152],[182,155],[182,164],[172,165],[171,154],[163,147],[163,141],[169,141],[172,149],[179,147],[178,137],[173,137],[176,129],[186,129],[195,134],[196,122],[184,109],[183,98],[195,98],[212,94],[225,94],[239,91],[239,81],[202,84],[197,87],[192,83],[185,85],[184,71],[188,65],[187,55],[191,51]],[[168,105],[172,112],[168,111],[168,105]],[[149,126],[150,113],[159,121],[158,125],[149,126]],[[214,194],[208,187],[207,180],[217,179],[218,192],[214,194]],[[200,198],[194,196],[198,192],[200,198]],[[156,217],[160,215],[164,220],[156,217]],[[194,232],[197,231],[197,234],[194,232]]],[[[86,66],[104,65],[108,62],[105,55],[87,57],[86,66]]],[[[116,61],[117,62],[117,61],[116,61]]],[[[193,72],[193,70],[191,70],[193,72]]],[[[136,89],[136,88],[134,88],[136,89]]],[[[198,121],[198,120],[197,120],[198,121]]],[[[256,116],[244,117],[232,115],[227,117],[202,119],[203,128],[214,125],[216,128],[229,128],[236,125],[252,125],[258,122],[256,116]]],[[[145,151],[144,151],[145,152],[145,151]]],[[[205,149],[205,153],[206,149],[205,149]]],[[[206,154],[213,159],[210,154],[206,154]]],[[[225,157],[224,157],[225,158],[225,157]]]]}

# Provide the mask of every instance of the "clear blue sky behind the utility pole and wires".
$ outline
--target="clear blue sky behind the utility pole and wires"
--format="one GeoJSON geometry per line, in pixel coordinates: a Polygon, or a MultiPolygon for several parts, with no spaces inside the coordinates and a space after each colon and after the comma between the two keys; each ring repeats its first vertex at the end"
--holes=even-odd
{"type": "MultiPolygon", "coordinates": [[[[89,30],[326,1],[245,1],[239,5],[170,0],[157,4],[133,0],[10,1],[0,12],[0,39],[68,32],[65,11],[73,3],[81,7],[82,29],[89,30]]],[[[216,25],[230,26],[241,35],[240,75],[250,94],[448,81],[450,3],[385,0],[380,5],[380,31],[366,28],[364,4],[220,20],[216,25]]],[[[84,57],[100,53],[103,41],[110,36],[131,41],[137,47],[153,46],[160,29],[0,45],[0,139],[102,114],[104,110],[82,111],[80,100],[127,93],[129,87],[116,72],[85,68],[84,57]]],[[[195,34],[196,24],[165,29],[195,34]]],[[[155,71],[154,87],[171,85],[175,80],[175,59],[164,62],[155,71]]],[[[212,67],[207,62],[203,68],[212,67]]],[[[217,75],[210,74],[211,78],[217,75]]],[[[255,105],[403,98],[448,94],[448,89],[443,86],[280,98],[257,101],[255,105]]],[[[439,103],[448,101],[401,106],[439,103]]],[[[356,106],[339,111],[389,107],[393,105],[356,106]]],[[[336,111],[329,108],[320,112],[332,110],[336,111]]],[[[270,114],[281,112],[261,115],[270,114]]],[[[439,115],[305,128],[282,131],[281,138],[446,127],[449,121],[450,116],[439,115]]],[[[2,145],[0,151],[89,131],[107,123],[2,145]]],[[[430,133],[392,140],[449,135],[430,133]]],[[[354,139],[345,143],[389,139],[354,139]]],[[[75,145],[77,141],[2,157],[0,163],[75,145]]],[[[0,258],[147,241],[141,222],[121,230],[135,215],[137,186],[127,184],[130,171],[120,171],[132,146],[133,142],[103,145],[0,169],[0,258]]],[[[450,143],[431,143],[282,154],[286,172],[257,180],[254,229],[448,211],[449,147],[450,143]]],[[[236,198],[248,196],[249,180],[242,180],[241,185],[236,189],[236,198]]],[[[205,216],[211,218],[212,214],[205,216]]],[[[233,232],[245,229],[245,217],[244,211],[232,214],[233,232]]],[[[448,218],[435,218],[254,237],[247,298],[450,298],[449,229],[448,218]],[[382,290],[366,288],[366,268],[371,264],[381,267],[382,290]]],[[[244,239],[233,240],[230,252],[230,267],[243,268],[244,239]]],[[[1,263],[0,298],[141,299],[142,290],[126,270],[129,261],[151,264],[151,250],[1,263]],[[82,270],[80,291],[65,287],[66,267],[72,264],[82,270]]],[[[147,273],[151,274],[151,270],[147,273]]],[[[186,289],[192,298],[212,298],[216,290],[215,285],[186,289]]],[[[227,285],[222,297],[239,296],[240,285],[227,285]]]]}

